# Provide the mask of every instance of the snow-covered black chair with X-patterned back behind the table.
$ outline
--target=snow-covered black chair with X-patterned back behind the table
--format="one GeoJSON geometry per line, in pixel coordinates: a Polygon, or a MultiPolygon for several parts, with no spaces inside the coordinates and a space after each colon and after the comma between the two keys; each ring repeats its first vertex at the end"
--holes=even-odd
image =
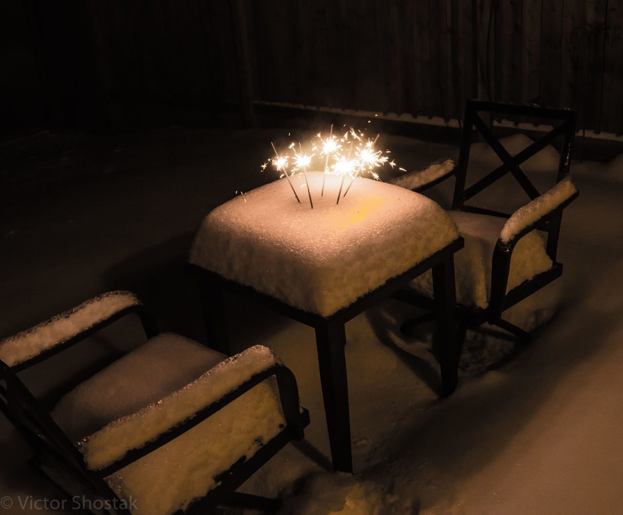
{"type": "MultiPolygon", "coordinates": [[[[485,322],[508,331],[521,341],[530,340],[530,333],[506,321],[503,314],[562,273],[563,265],[556,260],[556,250],[563,209],[578,196],[568,176],[575,128],[576,113],[571,110],[470,100],[465,107],[456,166],[450,160],[440,160],[427,169],[411,172],[393,181],[399,186],[422,192],[449,177],[455,177],[449,214],[465,239],[464,249],[455,255],[460,347],[467,329],[485,322]],[[553,128],[538,141],[511,156],[480,113],[494,117],[521,116],[521,120],[530,118],[540,122],[547,120],[553,123],[553,128]],[[502,164],[495,169],[487,169],[485,173],[482,169],[472,171],[470,168],[470,174],[478,176],[473,184],[466,186],[474,129],[483,136],[502,164]],[[520,165],[557,138],[562,139],[562,144],[554,186],[540,194],[520,165]],[[470,199],[509,173],[528,195],[528,204],[512,214],[468,204],[470,199]],[[537,234],[538,231],[545,234],[545,241],[537,234]]],[[[432,309],[430,291],[430,283],[424,278],[411,283],[409,288],[395,296],[412,305],[432,309]]],[[[429,318],[424,315],[407,321],[402,329],[408,333],[416,324],[429,318]]]]}

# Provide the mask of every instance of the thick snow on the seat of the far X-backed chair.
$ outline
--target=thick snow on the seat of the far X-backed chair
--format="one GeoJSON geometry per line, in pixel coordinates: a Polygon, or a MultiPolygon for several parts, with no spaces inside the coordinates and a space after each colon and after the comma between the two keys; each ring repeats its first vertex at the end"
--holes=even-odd
{"type": "MultiPolygon", "coordinates": [[[[486,309],[490,300],[493,248],[506,219],[464,211],[449,211],[449,215],[465,239],[465,247],[454,257],[457,302],[486,309]]],[[[506,291],[549,270],[552,265],[538,232],[535,230],[525,235],[513,250],[506,291]]],[[[432,297],[432,274],[430,271],[422,274],[409,286],[432,297]]]]}

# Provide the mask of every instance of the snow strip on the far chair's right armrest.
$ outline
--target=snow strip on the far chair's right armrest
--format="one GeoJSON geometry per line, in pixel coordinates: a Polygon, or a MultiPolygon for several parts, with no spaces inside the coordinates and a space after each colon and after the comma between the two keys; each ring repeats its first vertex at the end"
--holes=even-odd
{"type": "Polygon", "coordinates": [[[510,243],[516,235],[562,206],[577,193],[578,188],[571,182],[571,177],[565,177],[543,195],[516,210],[502,227],[500,242],[505,245],[510,243]]]}

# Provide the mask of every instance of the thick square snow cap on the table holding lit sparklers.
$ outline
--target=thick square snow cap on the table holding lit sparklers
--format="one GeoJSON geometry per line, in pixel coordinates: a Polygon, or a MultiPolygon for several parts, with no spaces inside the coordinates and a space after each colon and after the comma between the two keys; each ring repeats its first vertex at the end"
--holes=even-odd
{"type": "Polygon", "coordinates": [[[415,192],[358,177],[336,205],[338,177],[326,177],[322,197],[323,174],[308,180],[313,209],[298,176],[301,203],[283,178],[212,210],[190,262],[329,316],[457,238],[444,210],[415,192]]]}

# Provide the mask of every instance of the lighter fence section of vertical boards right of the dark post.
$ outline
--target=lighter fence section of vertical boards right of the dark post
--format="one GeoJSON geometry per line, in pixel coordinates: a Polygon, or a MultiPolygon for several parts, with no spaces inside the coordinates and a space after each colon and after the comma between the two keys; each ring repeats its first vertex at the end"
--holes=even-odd
{"type": "Polygon", "coordinates": [[[239,2],[257,100],[460,118],[466,98],[568,106],[623,131],[623,2],[239,2]]]}

